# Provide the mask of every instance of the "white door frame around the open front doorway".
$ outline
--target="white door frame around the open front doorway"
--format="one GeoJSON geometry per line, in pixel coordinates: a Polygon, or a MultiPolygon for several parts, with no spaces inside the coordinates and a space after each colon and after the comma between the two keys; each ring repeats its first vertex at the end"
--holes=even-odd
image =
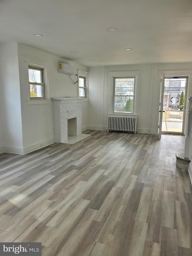
{"type": "MultiPolygon", "coordinates": [[[[165,74],[165,77],[188,77],[188,84],[187,84],[187,93],[186,93],[186,100],[192,95],[192,70],[170,70],[170,71],[158,71],[158,75],[161,76],[165,74]]],[[[158,83],[159,84],[159,83],[158,83]]],[[[159,97],[160,97],[160,90],[159,89],[159,97]]],[[[158,103],[159,105],[159,103],[158,103]]],[[[159,110],[159,106],[158,106],[159,110]]],[[[187,134],[187,116],[188,116],[188,101],[186,101],[186,108],[185,108],[185,122],[184,122],[184,135],[187,134]]],[[[169,134],[169,133],[167,133],[169,134]]],[[[178,134],[179,135],[179,134],[178,134]]]]}

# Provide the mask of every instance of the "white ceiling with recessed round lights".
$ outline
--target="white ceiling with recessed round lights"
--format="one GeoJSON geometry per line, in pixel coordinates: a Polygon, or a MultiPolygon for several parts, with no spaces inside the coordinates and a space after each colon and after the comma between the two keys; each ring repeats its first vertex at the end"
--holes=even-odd
{"type": "Polygon", "coordinates": [[[192,62],[192,0],[0,0],[0,24],[0,42],[85,66],[192,62]]]}

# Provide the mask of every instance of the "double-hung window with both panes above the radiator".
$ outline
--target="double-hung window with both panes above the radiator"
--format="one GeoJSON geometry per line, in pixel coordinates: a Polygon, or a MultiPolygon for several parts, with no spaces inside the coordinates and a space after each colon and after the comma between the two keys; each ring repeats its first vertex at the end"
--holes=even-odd
{"type": "Polygon", "coordinates": [[[113,112],[134,113],[136,77],[113,78],[113,112]]]}

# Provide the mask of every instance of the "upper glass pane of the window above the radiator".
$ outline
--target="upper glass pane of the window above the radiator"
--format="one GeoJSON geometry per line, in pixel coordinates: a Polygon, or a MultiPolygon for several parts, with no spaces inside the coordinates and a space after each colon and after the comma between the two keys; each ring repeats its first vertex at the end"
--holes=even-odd
{"type": "Polygon", "coordinates": [[[134,95],[134,78],[115,78],[115,95],[134,95]]]}

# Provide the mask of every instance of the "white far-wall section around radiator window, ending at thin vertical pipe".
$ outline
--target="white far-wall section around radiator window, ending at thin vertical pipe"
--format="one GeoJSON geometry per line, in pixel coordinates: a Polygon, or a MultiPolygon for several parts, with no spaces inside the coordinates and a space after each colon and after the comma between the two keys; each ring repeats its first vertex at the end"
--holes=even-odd
{"type": "Polygon", "coordinates": [[[111,71],[140,71],[139,108],[137,127],[148,132],[150,101],[148,93],[151,91],[152,65],[118,65],[88,68],[89,72],[89,128],[107,128],[107,115],[111,113],[110,78],[111,71]],[[104,82],[104,83],[103,83],[104,82]],[[103,86],[104,86],[104,119],[103,119],[103,86]],[[147,100],[146,100],[147,99],[147,100]]]}

